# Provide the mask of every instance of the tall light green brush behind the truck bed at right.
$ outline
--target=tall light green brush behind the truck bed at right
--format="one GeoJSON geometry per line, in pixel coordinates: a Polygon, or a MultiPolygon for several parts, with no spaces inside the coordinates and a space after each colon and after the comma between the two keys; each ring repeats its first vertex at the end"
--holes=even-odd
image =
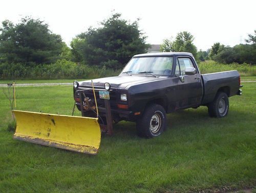
{"type": "Polygon", "coordinates": [[[237,70],[241,76],[256,76],[256,66],[249,65],[248,63],[242,63],[241,65],[238,63],[230,63],[227,65],[224,63],[218,63],[216,61],[207,60],[198,63],[198,66],[202,74],[237,70]]]}

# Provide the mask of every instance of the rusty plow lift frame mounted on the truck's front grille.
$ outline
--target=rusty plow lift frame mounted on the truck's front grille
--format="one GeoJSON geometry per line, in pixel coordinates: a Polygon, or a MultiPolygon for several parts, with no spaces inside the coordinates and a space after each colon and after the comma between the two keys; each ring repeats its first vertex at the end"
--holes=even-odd
{"type": "MultiPolygon", "coordinates": [[[[91,89],[84,89],[84,90],[76,91],[79,94],[79,98],[80,98],[80,109],[81,109],[82,117],[86,117],[85,111],[94,112],[97,115],[97,118],[100,119],[101,124],[99,123],[99,125],[100,125],[100,129],[101,129],[101,133],[106,133],[108,135],[112,135],[113,134],[113,122],[112,122],[112,115],[111,115],[110,100],[103,99],[104,100],[104,108],[100,108],[100,109],[104,109],[104,111],[105,111],[106,121],[104,122],[102,117],[98,114],[98,111],[97,112],[95,111],[98,108],[97,101],[93,102],[84,93],[84,91],[87,91],[87,90],[91,90],[91,89]]],[[[95,100],[96,100],[96,97],[95,97],[95,100]]],[[[74,104],[72,116],[75,111],[75,105],[76,105],[76,102],[74,104]]]]}

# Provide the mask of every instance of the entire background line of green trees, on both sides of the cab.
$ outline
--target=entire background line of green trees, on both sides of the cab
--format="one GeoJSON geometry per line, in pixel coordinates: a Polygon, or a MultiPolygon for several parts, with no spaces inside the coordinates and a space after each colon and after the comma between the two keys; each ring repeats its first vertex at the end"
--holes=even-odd
{"type": "MultiPolygon", "coordinates": [[[[4,20],[0,27],[1,76],[7,73],[10,77],[25,77],[26,73],[29,74],[27,67],[51,64],[38,68],[42,72],[42,69],[48,69],[44,73],[57,73],[55,63],[58,67],[63,66],[61,71],[74,68],[74,64],[77,69],[81,65],[99,69],[121,69],[131,56],[145,53],[150,47],[146,44],[146,36],[139,30],[138,22],[136,20],[131,23],[121,18],[121,14],[113,14],[103,20],[100,27],[90,27],[78,34],[69,48],[60,35],[51,32],[48,24],[39,19],[25,17],[18,24],[4,20]],[[73,66],[69,65],[69,61],[73,66]]],[[[164,52],[191,52],[201,61],[212,59],[221,63],[256,63],[256,30],[254,34],[248,35],[247,44],[234,47],[217,42],[207,51],[197,51],[193,41],[194,36],[183,31],[175,38],[164,39],[160,49],[164,52]]]]}

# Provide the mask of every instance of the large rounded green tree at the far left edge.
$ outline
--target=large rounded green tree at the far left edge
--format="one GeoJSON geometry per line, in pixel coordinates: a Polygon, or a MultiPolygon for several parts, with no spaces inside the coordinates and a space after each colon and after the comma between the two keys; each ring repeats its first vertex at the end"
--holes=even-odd
{"type": "Polygon", "coordinates": [[[9,20],[0,27],[0,59],[6,62],[51,63],[62,52],[60,35],[39,19],[22,18],[14,25],[9,20]]]}

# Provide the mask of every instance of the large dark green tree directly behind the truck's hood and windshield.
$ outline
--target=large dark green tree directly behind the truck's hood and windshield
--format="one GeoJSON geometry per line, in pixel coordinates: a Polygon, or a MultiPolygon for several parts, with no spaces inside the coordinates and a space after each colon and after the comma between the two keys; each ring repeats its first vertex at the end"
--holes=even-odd
{"type": "Polygon", "coordinates": [[[138,29],[138,20],[130,23],[116,13],[101,22],[101,27],[77,35],[71,47],[77,59],[88,65],[119,69],[131,56],[147,50],[145,39],[138,29]]]}

